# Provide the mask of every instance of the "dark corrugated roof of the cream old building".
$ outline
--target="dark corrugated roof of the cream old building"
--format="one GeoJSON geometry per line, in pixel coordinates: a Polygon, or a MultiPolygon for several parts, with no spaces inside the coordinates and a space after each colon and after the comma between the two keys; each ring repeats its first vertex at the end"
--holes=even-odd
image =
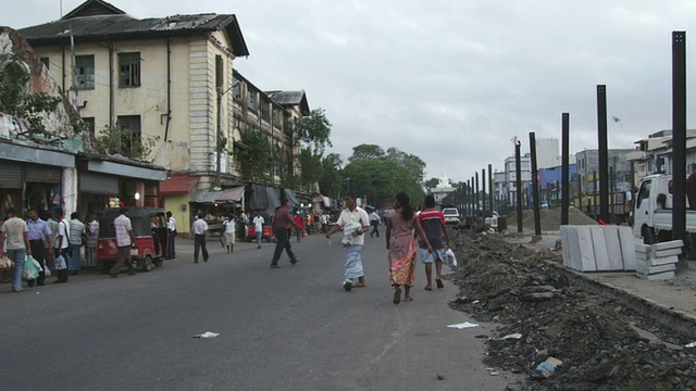
{"type": "Polygon", "coordinates": [[[249,55],[237,18],[233,14],[212,13],[174,15],[138,20],[128,15],[94,15],[54,21],[26,27],[18,33],[30,43],[70,41],[70,33],[77,42],[104,38],[152,38],[226,30],[235,55],[249,55]]]}

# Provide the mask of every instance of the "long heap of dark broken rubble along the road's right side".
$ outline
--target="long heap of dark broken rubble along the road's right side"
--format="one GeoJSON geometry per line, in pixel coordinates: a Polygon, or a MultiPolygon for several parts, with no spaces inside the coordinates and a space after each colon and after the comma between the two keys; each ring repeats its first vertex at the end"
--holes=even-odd
{"type": "Polygon", "coordinates": [[[451,306],[504,325],[485,336],[485,363],[527,375],[511,388],[696,389],[696,349],[685,348],[696,328],[675,329],[669,314],[637,310],[563,269],[560,253],[549,249],[467,230],[451,236],[459,261],[452,281],[461,290],[451,306]]]}

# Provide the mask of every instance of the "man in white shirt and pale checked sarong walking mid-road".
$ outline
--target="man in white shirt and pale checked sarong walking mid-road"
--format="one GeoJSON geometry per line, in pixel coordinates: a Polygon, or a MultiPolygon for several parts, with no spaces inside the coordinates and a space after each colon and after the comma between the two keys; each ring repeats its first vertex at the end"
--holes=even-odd
{"type": "Polygon", "coordinates": [[[347,292],[353,287],[364,287],[365,277],[362,269],[362,247],[366,231],[370,230],[370,216],[362,207],[358,206],[355,193],[346,194],[346,209],[340,213],[336,225],[326,234],[326,239],[332,235],[344,230],[344,247],[346,247],[346,265],[344,268],[343,287],[347,292]],[[358,281],[356,282],[356,279],[358,281]]]}

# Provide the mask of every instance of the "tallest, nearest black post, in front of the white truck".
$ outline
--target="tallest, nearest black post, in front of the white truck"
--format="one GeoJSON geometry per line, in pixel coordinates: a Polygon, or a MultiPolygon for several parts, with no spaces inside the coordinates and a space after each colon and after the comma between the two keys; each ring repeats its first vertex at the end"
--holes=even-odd
{"type": "Polygon", "coordinates": [[[686,232],[686,31],[672,31],[672,239],[686,232]]]}

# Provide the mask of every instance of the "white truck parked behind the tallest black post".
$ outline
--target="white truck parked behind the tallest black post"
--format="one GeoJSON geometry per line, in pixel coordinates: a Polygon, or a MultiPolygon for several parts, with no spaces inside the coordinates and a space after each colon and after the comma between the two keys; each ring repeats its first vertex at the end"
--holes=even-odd
{"type": "MultiPolygon", "coordinates": [[[[686,201],[686,240],[689,247],[696,234],[696,211],[686,201]]],[[[672,236],[672,176],[649,175],[641,180],[633,206],[633,235],[645,244],[671,240],[672,236]]]]}

